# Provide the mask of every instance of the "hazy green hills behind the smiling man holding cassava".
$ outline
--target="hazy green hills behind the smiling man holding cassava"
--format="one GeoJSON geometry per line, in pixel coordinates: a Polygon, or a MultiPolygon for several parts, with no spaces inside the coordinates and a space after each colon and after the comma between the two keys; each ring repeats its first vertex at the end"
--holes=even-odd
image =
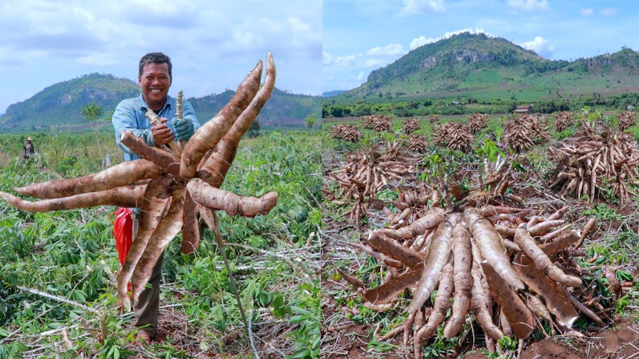
{"type": "MultiPolygon", "coordinates": [[[[233,96],[234,91],[188,98],[197,118],[204,123],[212,118],[233,96]]],[[[82,116],[84,105],[102,106],[108,116],[118,103],[140,95],[137,83],[109,74],[90,73],[58,82],[22,102],[13,103],[0,116],[0,130],[43,130],[49,126],[88,126],[82,116]]],[[[294,95],[277,88],[260,112],[260,125],[305,126],[304,118],[321,113],[321,96],[294,95]]]]}

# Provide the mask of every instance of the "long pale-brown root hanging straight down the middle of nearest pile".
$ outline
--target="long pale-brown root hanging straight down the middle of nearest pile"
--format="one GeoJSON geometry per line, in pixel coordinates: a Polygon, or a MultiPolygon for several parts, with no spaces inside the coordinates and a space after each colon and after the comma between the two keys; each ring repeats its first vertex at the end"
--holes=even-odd
{"type": "Polygon", "coordinates": [[[463,224],[458,223],[452,230],[452,254],[454,256],[454,284],[455,296],[452,302],[452,314],[443,328],[443,335],[452,338],[465,323],[466,314],[470,310],[470,291],[472,289],[472,250],[470,244],[470,233],[466,231],[463,224]]]}

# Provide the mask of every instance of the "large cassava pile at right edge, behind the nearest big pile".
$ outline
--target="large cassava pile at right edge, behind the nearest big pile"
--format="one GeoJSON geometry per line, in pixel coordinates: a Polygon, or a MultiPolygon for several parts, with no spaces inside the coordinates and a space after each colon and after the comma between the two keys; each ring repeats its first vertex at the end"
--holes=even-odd
{"type": "Polygon", "coordinates": [[[630,199],[627,183],[639,185],[639,149],[627,132],[607,130],[599,135],[592,126],[583,126],[574,137],[548,150],[557,163],[557,178],[550,187],[559,185],[560,195],[588,195],[592,202],[595,196],[605,198],[610,188],[624,204],[630,199]]]}

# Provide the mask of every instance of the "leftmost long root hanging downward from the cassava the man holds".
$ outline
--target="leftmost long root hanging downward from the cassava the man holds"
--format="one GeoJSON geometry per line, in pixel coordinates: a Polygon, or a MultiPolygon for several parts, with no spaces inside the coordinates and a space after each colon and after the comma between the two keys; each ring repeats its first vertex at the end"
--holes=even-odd
{"type": "Polygon", "coordinates": [[[153,234],[153,230],[164,216],[166,208],[171,204],[172,185],[173,179],[167,176],[160,176],[151,181],[146,186],[144,199],[139,205],[141,209],[137,234],[135,235],[133,243],[131,243],[131,248],[128,250],[122,270],[118,275],[118,298],[127,311],[131,309],[131,303],[127,294],[127,284],[133,275],[133,270],[135,266],[137,266],[137,262],[140,257],[142,257],[142,253],[146,248],[151,234],[153,234]]]}

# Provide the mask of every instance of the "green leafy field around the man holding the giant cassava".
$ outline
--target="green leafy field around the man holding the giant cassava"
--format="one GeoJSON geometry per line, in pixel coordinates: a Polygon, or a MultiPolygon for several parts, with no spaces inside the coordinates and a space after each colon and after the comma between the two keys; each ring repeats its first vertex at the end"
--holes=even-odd
{"type": "MultiPolygon", "coordinates": [[[[106,155],[111,165],[123,160],[111,132],[33,137],[37,154],[23,161],[26,135],[0,136],[1,192],[98,172],[106,155]]],[[[31,213],[1,201],[0,358],[252,358],[254,349],[260,358],[318,358],[320,146],[316,132],[243,139],[226,176],[222,188],[236,194],[279,194],[268,215],[219,213],[249,328],[207,229],[193,254],[181,254],[180,235],[167,247],[166,340],[146,348],[134,344],[132,313],[116,295],[116,208],[31,213]]]]}

